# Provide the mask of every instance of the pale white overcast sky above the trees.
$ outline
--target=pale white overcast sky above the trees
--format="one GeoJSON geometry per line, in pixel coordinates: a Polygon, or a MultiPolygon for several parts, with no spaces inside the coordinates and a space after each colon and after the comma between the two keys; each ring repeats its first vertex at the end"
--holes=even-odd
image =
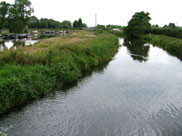
{"type": "MultiPolygon", "coordinates": [[[[3,1],[3,0],[0,0],[3,1]]],[[[14,0],[5,0],[14,3],[14,0]]],[[[30,0],[38,18],[58,21],[82,18],[88,26],[127,25],[135,12],[147,11],[152,24],[174,22],[182,26],[182,0],[30,0]]]]}

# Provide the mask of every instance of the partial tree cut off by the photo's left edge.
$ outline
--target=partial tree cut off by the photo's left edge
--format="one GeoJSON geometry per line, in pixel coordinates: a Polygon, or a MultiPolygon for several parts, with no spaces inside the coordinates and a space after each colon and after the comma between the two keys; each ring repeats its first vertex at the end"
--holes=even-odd
{"type": "Polygon", "coordinates": [[[6,3],[5,1],[0,3],[0,31],[4,28],[9,6],[10,4],[6,3]]]}

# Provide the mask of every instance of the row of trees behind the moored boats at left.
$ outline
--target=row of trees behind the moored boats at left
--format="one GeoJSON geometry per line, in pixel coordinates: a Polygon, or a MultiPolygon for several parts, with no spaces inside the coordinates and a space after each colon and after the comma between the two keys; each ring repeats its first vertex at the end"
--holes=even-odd
{"type": "Polygon", "coordinates": [[[14,4],[5,1],[0,2],[0,31],[4,28],[9,32],[21,33],[28,28],[32,29],[82,29],[87,27],[82,19],[75,20],[73,25],[70,21],[59,22],[53,19],[31,16],[34,12],[29,0],[15,0],[14,4]]]}

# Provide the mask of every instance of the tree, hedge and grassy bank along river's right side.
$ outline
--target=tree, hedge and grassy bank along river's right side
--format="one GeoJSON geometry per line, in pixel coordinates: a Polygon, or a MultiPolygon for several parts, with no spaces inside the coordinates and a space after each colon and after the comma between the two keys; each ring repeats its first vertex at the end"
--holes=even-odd
{"type": "Polygon", "coordinates": [[[180,39],[182,29],[176,27],[174,23],[163,28],[151,26],[149,15],[148,12],[142,11],[132,16],[128,26],[124,28],[125,40],[151,43],[182,60],[182,39],[180,39]]]}

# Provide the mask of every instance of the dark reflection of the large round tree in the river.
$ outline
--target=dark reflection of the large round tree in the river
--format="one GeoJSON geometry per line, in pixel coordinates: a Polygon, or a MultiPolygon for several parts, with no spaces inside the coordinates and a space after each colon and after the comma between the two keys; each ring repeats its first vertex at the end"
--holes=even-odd
{"type": "Polygon", "coordinates": [[[127,50],[133,60],[139,62],[145,62],[148,60],[150,45],[144,44],[142,41],[124,41],[124,46],[127,47],[127,50]]]}

